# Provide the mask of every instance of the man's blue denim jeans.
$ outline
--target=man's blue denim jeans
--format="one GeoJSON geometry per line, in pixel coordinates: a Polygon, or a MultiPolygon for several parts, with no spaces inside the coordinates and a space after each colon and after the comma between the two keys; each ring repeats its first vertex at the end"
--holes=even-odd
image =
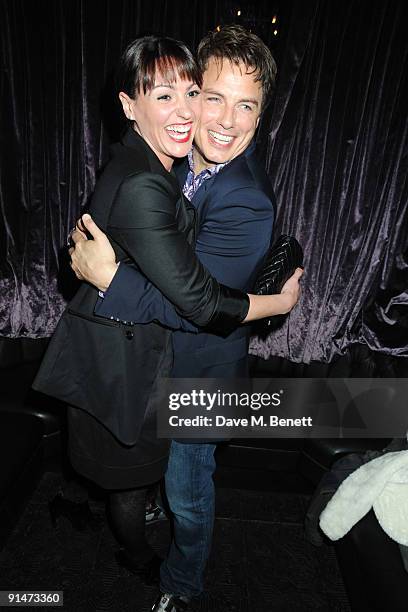
{"type": "Polygon", "coordinates": [[[171,443],[165,482],[174,529],[160,568],[160,588],[165,593],[193,597],[203,591],[214,525],[215,447],[171,443]]]}

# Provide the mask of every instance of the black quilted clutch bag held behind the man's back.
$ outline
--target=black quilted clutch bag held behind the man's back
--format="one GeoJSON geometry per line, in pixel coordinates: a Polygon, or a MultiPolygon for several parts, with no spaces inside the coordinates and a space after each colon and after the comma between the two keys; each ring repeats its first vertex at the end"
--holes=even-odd
{"type": "MultiPolygon", "coordinates": [[[[303,250],[296,238],[282,234],[269,247],[265,262],[256,279],[254,293],[257,295],[272,295],[280,293],[283,285],[292,276],[296,268],[303,265],[303,250]]],[[[261,326],[271,329],[272,324],[279,325],[282,317],[264,319],[261,326]]],[[[276,327],[276,325],[273,325],[276,327]]]]}

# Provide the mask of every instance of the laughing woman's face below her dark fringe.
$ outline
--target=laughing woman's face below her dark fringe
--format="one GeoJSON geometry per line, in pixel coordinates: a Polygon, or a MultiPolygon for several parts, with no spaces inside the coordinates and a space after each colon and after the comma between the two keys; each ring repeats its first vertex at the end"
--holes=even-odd
{"type": "Polygon", "coordinates": [[[174,158],[184,157],[191,149],[200,115],[200,89],[192,81],[177,76],[166,82],[156,74],[154,87],[135,100],[121,92],[123,111],[134,121],[135,130],[156,153],[167,170],[174,158]]]}

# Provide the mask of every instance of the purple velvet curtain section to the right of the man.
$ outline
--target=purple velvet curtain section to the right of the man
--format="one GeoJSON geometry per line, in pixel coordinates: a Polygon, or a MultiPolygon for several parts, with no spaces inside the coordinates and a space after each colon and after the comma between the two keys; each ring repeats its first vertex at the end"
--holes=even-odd
{"type": "Polygon", "coordinates": [[[270,119],[277,235],[305,251],[301,303],[251,352],[408,356],[408,44],[403,2],[295,2],[270,119]]]}

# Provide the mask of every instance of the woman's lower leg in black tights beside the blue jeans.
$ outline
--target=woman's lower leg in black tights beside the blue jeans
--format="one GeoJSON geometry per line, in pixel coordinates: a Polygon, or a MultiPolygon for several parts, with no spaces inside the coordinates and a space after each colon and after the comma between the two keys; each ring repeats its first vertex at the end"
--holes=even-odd
{"type": "Polygon", "coordinates": [[[107,503],[115,538],[136,562],[141,563],[150,560],[154,554],[145,534],[147,492],[146,488],[110,491],[107,503]]]}

